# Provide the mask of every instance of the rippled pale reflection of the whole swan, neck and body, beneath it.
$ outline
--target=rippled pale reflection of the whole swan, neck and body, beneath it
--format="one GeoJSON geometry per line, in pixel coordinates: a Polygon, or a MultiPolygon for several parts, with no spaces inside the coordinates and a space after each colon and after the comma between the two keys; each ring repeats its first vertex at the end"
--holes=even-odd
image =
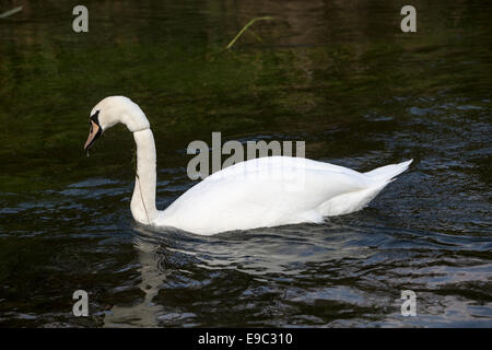
{"type": "Polygon", "coordinates": [[[141,273],[141,282],[137,287],[144,296],[131,306],[114,305],[105,316],[104,327],[157,327],[172,322],[166,318],[169,312],[183,317],[191,315],[190,310],[169,306],[168,302],[181,296],[176,296],[176,293],[195,298],[191,294],[196,293],[197,283],[201,285],[200,298],[209,298],[212,303],[216,302],[216,295],[209,289],[221,289],[224,294],[237,290],[246,295],[243,299],[255,299],[259,280],[268,284],[260,291],[282,299],[286,292],[285,280],[295,280],[296,276],[306,273],[319,275],[327,270],[329,261],[367,255],[364,248],[345,247],[348,242],[361,238],[358,231],[328,222],[324,225],[229,232],[210,237],[137,224],[133,230],[137,233],[132,240],[133,247],[141,273]],[[169,270],[163,264],[167,259],[169,270]],[[321,265],[320,271],[317,265],[321,265]],[[159,295],[161,290],[166,290],[166,298],[162,292],[159,295]]]}

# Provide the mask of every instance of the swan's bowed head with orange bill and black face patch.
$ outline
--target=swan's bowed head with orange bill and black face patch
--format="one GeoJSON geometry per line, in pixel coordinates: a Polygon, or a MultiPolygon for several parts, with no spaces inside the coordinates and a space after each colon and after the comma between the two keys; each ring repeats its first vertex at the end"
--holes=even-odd
{"type": "Polygon", "coordinates": [[[131,132],[150,128],[149,120],[138,104],[125,96],[109,96],[91,110],[89,117],[91,128],[84,150],[89,150],[104,131],[118,122],[125,124],[131,132]]]}

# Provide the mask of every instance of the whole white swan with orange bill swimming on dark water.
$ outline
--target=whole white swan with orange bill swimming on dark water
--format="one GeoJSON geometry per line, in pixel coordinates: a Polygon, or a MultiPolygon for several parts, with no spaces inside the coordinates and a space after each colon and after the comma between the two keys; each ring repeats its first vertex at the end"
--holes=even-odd
{"type": "Polygon", "coordinates": [[[303,158],[254,159],[212,174],[166,210],[155,208],[155,143],[142,109],[124,96],[101,101],[91,112],[87,150],[101,133],[122,122],[137,143],[131,213],[136,221],[174,226],[200,235],[302,222],[350,213],[365,207],[405,172],[412,160],[359,173],[303,158]]]}

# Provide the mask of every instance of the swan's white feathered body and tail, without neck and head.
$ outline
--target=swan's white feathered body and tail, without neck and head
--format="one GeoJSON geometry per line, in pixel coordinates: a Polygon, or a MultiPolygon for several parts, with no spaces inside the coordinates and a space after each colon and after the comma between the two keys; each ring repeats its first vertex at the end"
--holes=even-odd
{"type": "MultiPolygon", "coordinates": [[[[401,163],[405,171],[409,163],[401,163]]],[[[393,168],[391,168],[393,170],[393,168]]],[[[353,212],[366,206],[396,172],[366,174],[300,158],[261,158],[218,172],[197,184],[157,217],[199,234],[247,230],[353,212]],[[296,182],[289,174],[303,176],[296,182]],[[292,186],[290,186],[292,185],[292,186]]]]}

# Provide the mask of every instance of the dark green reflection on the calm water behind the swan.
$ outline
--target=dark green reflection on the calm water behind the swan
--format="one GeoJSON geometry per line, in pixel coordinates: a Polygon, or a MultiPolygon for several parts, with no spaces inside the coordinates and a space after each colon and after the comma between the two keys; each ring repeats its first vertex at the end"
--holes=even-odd
{"type": "MultiPolygon", "coordinates": [[[[120,150],[132,141],[121,129],[108,132],[90,161],[82,152],[89,112],[107,95],[142,106],[164,166],[185,166],[176,151],[216,130],[230,139],[309,139],[356,127],[367,113],[408,118],[419,98],[489,106],[490,15],[475,2],[415,2],[417,34],[399,32],[399,7],[390,1],[86,5],[89,34],[71,31],[69,1],[32,2],[0,23],[1,191],[105,174],[131,178],[131,152],[120,150]],[[265,45],[244,35],[235,50],[220,52],[263,14],[278,19],[255,24],[265,45]],[[388,103],[395,97],[402,100],[388,103]]],[[[327,144],[307,142],[307,156],[325,155],[327,144]]],[[[361,139],[329,154],[355,156],[366,145],[361,139]]]]}

